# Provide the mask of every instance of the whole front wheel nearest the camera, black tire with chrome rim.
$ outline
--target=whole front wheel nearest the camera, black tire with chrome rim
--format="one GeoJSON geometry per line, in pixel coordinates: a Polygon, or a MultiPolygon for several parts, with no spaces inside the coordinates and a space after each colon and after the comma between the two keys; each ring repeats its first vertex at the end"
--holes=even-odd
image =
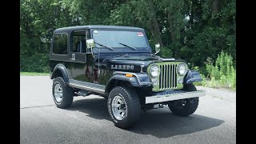
{"type": "Polygon", "coordinates": [[[138,94],[126,86],[117,86],[110,91],[107,102],[110,118],[122,129],[133,126],[141,118],[138,94]]]}

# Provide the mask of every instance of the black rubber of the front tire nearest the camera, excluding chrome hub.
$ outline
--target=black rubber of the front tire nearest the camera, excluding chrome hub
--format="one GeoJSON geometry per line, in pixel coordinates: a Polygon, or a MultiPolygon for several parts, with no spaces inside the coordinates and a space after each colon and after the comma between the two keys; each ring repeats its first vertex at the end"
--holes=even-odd
{"type": "MultiPolygon", "coordinates": [[[[132,90],[130,87],[126,86],[117,86],[110,91],[110,95],[107,101],[107,107],[110,114],[112,122],[115,126],[118,126],[122,129],[126,129],[130,126],[133,126],[141,118],[141,104],[138,98],[138,94],[135,90],[132,90]],[[122,98],[126,104],[126,113],[124,113],[124,118],[119,119],[115,117],[113,112],[114,99],[122,98]]],[[[119,113],[120,114],[120,113],[119,113]]]]}

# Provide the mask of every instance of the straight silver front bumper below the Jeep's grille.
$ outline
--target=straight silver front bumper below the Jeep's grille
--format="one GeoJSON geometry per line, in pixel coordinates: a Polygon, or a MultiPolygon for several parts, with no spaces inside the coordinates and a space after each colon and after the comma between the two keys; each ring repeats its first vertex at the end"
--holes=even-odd
{"type": "Polygon", "coordinates": [[[160,93],[155,93],[152,96],[146,97],[147,103],[169,102],[178,99],[196,98],[206,95],[206,90],[184,91],[184,90],[166,90],[160,93]]]}

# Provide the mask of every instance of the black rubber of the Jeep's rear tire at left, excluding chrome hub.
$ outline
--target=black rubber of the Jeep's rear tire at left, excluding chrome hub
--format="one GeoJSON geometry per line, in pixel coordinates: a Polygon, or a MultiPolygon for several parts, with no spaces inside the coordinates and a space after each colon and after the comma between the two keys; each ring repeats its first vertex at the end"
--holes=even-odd
{"type": "Polygon", "coordinates": [[[54,103],[58,108],[64,109],[72,105],[74,90],[72,87],[66,85],[62,77],[54,78],[52,93],[53,93],[54,103]],[[58,102],[58,100],[54,96],[54,88],[56,85],[62,86],[62,99],[60,102],[58,102]]]}

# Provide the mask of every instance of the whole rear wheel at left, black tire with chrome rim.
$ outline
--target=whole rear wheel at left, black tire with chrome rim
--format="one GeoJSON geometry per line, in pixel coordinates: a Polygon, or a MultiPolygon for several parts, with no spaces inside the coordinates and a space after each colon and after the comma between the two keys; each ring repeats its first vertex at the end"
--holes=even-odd
{"type": "Polygon", "coordinates": [[[53,82],[53,98],[54,103],[58,108],[68,108],[71,106],[74,97],[74,90],[67,86],[63,78],[54,78],[53,82]]]}

